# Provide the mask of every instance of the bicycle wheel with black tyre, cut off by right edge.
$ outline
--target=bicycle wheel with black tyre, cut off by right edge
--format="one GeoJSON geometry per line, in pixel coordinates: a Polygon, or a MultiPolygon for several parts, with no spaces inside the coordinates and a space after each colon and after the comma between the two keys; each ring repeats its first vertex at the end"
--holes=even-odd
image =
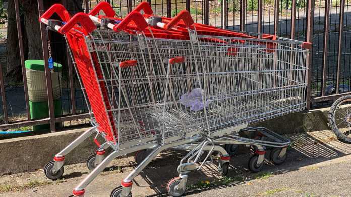
{"type": "Polygon", "coordinates": [[[342,96],[330,107],[328,120],[331,130],[341,142],[351,144],[351,129],[341,131],[342,128],[351,127],[351,95],[342,96]]]}

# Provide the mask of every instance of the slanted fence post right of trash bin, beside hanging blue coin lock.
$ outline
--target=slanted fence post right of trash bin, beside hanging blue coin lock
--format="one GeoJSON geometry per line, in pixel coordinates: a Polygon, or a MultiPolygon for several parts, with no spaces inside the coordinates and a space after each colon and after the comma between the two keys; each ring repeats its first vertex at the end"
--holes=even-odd
{"type": "MultiPolygon", "coordinates": [[[[38,0],[38,11],[39,16],[44,13],[43,0],[38,0]]],[[[49,105],[49,122],[51,132],[55,132],[55,114],[53,108],[53,95],[52,95],[52,84],[51,84],[51,72],[48,66],[48,51],[47,51],[47,40],[45,36],[45,25],[40,23],[40,35],[41,35],[41,44],[43,49],[43,57],[44,57],[44,69],[45,69],[45,80],[46,80],[46,90],[47,90],[47,102],[49,105]]]]}

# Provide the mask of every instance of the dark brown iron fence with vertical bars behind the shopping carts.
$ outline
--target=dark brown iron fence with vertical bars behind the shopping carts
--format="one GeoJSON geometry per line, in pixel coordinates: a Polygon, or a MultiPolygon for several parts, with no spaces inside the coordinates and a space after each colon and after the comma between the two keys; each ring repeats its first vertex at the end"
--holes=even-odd
{"type": "MultiPolygon", "coordinates": [[[[312,50],[307,58],[309,65],[307,108],[318,106],[320,102],[333,101],[337,97],[350,92],[351,86],[351,0],[147,0],[155,14],[173,17],[183,9],[188,10],[198,23],[209,24],[224,29],[250,31],[312,42],[312,50]]],[[[68,0],[61,3],[67,5],[68,0]]],[[[116,14],[125,16],[140,1],[138,0],[107,0],[116,14]]],[[[83,10],[89,12],[99,0],[82,0],[83,10]]],[[[40,26],[43,57],[45,62],[45,77],[48,91],[49,117],[41,120],[31,120],[28,106],[28,93],[24,67],[23,44],[21,36],[21,21],[19,17],[18,0],[15,0],[19,48],[21,52],[22,73],[24,81],[24,97],[26,105],[26,120],[11,122],[8,116],[6,91],[3,73],[0,70],[0,93],[5,123],[0,129],[30,126],[50,123],[51,132],[55,131],[55,123],[85,119],[89,117],[84,104],[81,90],[77,85],[77,77],[73,65],[66,54],[55,56],[63,65],[65,83],[61,84],[61,94],[66,99],[64,115],[54,117],[54,106],[51,89],[51,75],[47,65],[47,39],[45,26],[40,26]]],[[[38,0],[39,15],[44,8],[43,1],[38,0]]],[[[55,46],[65,48],[63,40],[51,37],[55,46]]]]}

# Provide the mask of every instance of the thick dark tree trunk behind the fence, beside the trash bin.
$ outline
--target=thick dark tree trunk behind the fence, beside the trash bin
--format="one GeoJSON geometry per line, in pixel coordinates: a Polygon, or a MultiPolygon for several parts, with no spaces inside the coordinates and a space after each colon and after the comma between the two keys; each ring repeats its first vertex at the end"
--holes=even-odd
{"type": "MultiPolygon", "coordinates": [[[[62,3],[59,0],[43,0],[45,9],[48,9],[54,3],[62,3]]],[[[24,58],[26,59],[42,59],[42,45],[40,36],[40,25],[38,22],[38,1],[37,0],[20,0],[20,15],[22,23],[22,37],[24,58]],[[27,39],[30,38],[30,39],[27,39]]],[[[71,14],[80,12],[82,8],[82,0],[66,0],[66,8],[71,14]]],[[[54,44],[55,42],[64,42],[62,35],[51,33],[51,43],[54,61],[66,63],[66,45],[54,44]],[[54,51],[55,50],[55,51],[54,51]],[[55,54],[54,54],[55,53],[55,54]]],[[[8,5],[8,37],[7,37],[7,72],[6,76],[13,82],[22,81],[21,58],[18,44],[18,34],[16,25],[16,13],[14,0],[9,1],[8,5]]]]}

